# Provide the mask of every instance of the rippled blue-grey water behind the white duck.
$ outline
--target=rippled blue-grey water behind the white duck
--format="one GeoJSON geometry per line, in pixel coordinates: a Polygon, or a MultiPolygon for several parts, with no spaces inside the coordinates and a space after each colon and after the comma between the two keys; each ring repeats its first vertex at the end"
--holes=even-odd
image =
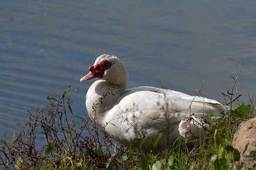
{"type": "Polygon", "coordinates": [[[80,83],[95,58],[117,55],[128,87],[155,86],[223,101],[243,61],[242,101],[256,92],[255,1],[0,2],[0,138],[11,139],[25,110],[75,87],[82,116],[93,81],[80,83]]]}

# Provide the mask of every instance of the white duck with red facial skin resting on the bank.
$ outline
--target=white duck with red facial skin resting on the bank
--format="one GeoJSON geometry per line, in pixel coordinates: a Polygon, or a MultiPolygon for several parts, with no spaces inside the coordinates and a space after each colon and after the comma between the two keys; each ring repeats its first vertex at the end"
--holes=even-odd
{"type": "Polygon", "coordinates": [[[142,134],[147,151],[158,132],[162,132],[159,149],[170,146],[179,135],[200,137],[209,128],[204,120],[228,108],[216,100],[168,89],[126,89],[127,68],[116,56],[99,56],[89,71],[80,82],[102,80],[95,81],[86,94],[88,114],[102,131],[126,147],[142,134]]]}

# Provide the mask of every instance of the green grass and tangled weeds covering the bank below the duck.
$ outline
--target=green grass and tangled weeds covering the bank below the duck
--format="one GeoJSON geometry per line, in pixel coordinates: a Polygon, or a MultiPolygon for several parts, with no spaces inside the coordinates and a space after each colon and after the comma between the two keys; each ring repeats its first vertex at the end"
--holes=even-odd
{"type": "MultiPolygon", "coordinates": [[[[240,72],[236,79],[233,78],[234,85],[239,75],[240,72]]],[[[66,94],[76,90],[69,86],[59,98],[57,94],[54,98],[48,97],[49,106],[37,109],[35,113],[28,111],[27,121],[20,125],[21,131],[14,133],[11,141],[0,140],[0,167],[19,170],[245,169],[239,162],[238,150],[231,143],[240,122],[255,117],[255,104],[251,97],[250,104],[240,104],[237,98],[240,95],[234,95],[233,89],[234,86],[223,96],[230,105],[237,102],[239,107],[228,115],[222,113],[212,117],[213,125],[207,138],[188,141],[179,137],[170,148],[157,152],[159,133],[151,142],[152,151],[145,153],[143,136],[127,149],[116,145],[85,113],[84,117],[75,116],[66,94]],[[43,135],[47,141],[42,150],[36,147],[40,140],[38,135],[43,135]],[[191,143],[193,147],[188,147],[191,143]]]]}

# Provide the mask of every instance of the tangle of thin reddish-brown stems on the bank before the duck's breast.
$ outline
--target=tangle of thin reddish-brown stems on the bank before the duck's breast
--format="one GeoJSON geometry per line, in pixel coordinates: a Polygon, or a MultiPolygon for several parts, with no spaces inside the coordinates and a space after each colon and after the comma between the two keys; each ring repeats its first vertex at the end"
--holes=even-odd
{"type": "MultiPolygon", "coordinates": [[[[37,108],[35,113],[27,111],[28,119],[24,125],[17,124],[22,128],[13,135],[12,141],[5,137],[0,140],[0,168],[29,169],[52,158],[55,166],[59,167],[63,157],[72,161],[94,160],[93,164],[97,164],[98,168],[105,168],[105,163],[112,156],[111,147],[115,147],[113,139],[103,135],[96,126],[92,127],[88,116],[75,116],[77,119],[74,121],[72,102],[66,98],[70,90],[76,91],[69,86],[60,98],[57,98],[56,93],[54,98],[47,97],[49,106],[37,108]],[[42,140],[39,138],[42,135],[47,144],[40,150],[38,141],[42,140]],[[54,148],[49,150],[52,143],[54,148]]],[[[102,99],[109,94],[115,95],[110,89],[102,99]]],[[[124,153],[122,145],[115,150],[117,153],[112,159],[117,159],[124,153]]]]}

